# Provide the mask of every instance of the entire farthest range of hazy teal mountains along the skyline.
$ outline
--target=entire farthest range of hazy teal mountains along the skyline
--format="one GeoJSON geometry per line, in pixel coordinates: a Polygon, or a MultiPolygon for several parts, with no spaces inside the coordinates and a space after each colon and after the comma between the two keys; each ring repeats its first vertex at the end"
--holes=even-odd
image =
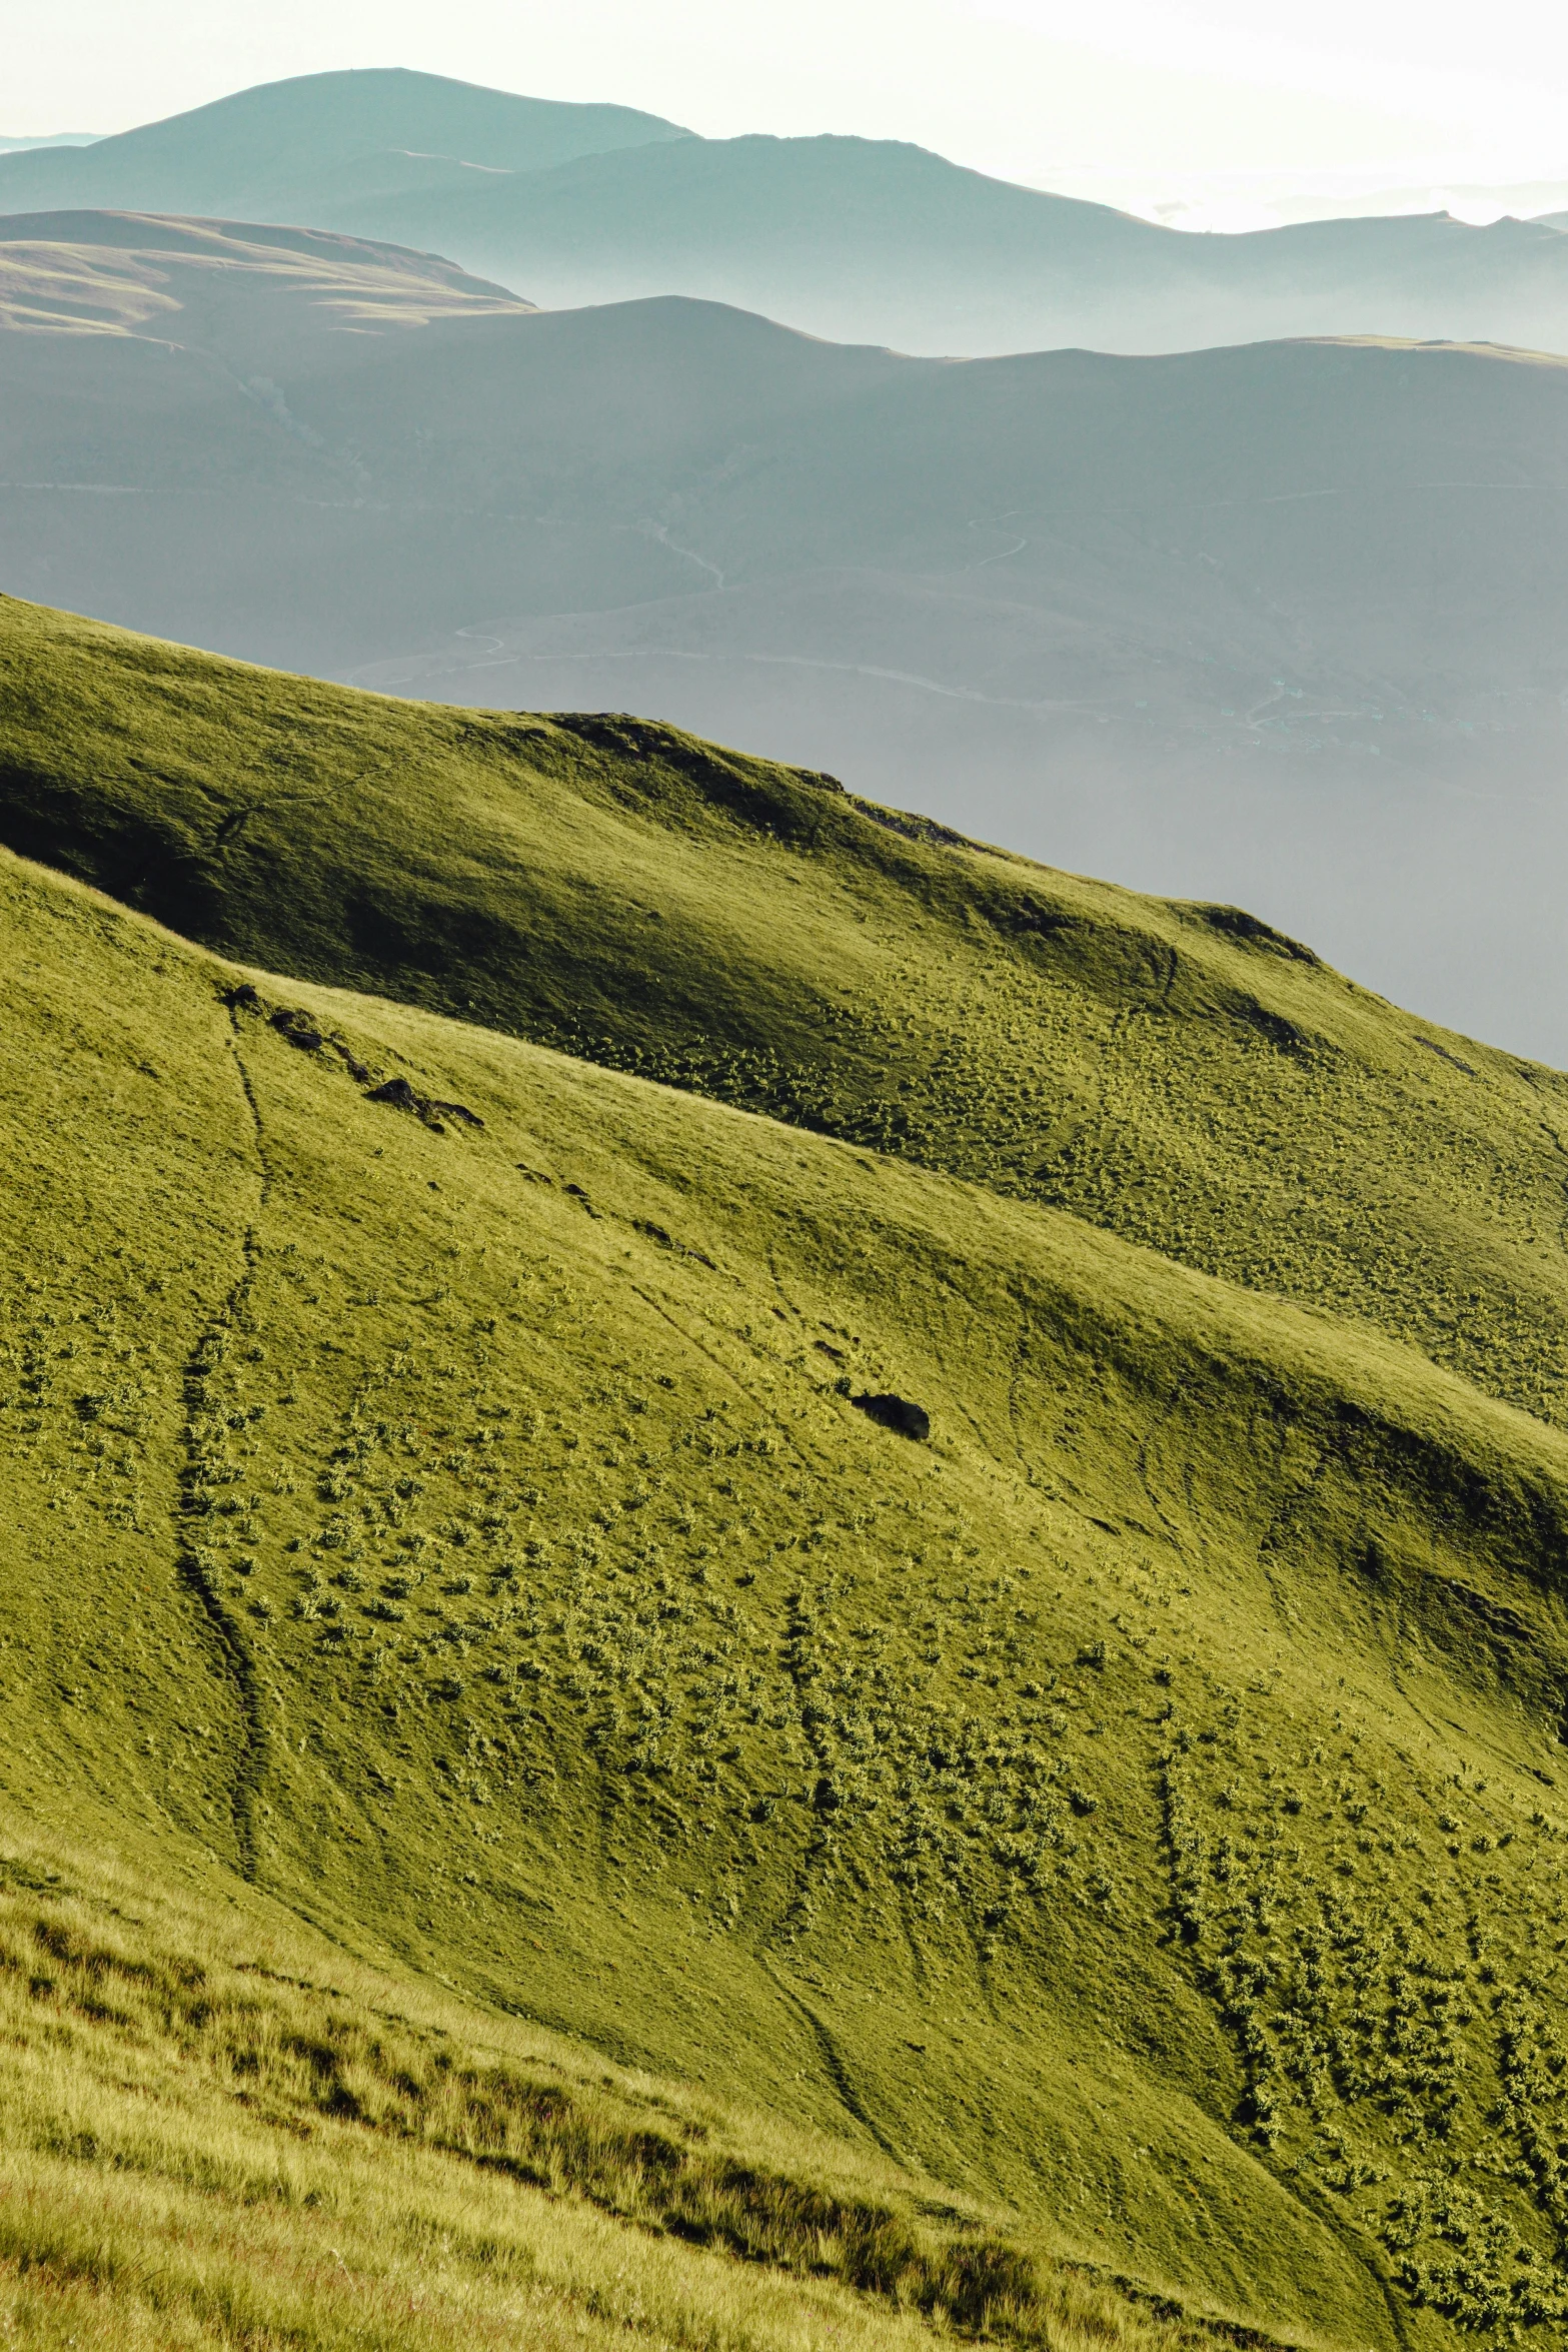
{"type": "Polygon", "coordinates": [[[322,73],[82,153],[0,158],[0,212],[296,221],[449,254],[550,308],[691,294],[910,353],[1394,334],[1568,350],[1568,240],[1446,214],[1220,238],[886,139],[696,139],[421,73],[322,73]]]}

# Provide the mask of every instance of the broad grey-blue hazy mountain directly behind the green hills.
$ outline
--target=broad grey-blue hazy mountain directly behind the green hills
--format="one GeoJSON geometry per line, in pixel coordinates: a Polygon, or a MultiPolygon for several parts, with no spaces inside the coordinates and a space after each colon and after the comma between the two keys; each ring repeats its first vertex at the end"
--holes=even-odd
{"type": "Polygon", "coordinates": [[[1568,365],[954,365],[82,216],[0,223],[0,315],[12,593],[670,717],[1568,1061],[1568,365]]]}

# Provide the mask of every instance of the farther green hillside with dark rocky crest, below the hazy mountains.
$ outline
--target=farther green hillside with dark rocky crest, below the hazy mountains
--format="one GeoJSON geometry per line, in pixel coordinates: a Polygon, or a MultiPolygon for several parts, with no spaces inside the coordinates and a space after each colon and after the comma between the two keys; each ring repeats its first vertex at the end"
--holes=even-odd
{"type": "Polygon", "coordinates": [[[273,969],[1056,1202],[1568,1411],[1568,1080],[1227,908],[630,720],[0,602],[0,840],[273,969]]]}

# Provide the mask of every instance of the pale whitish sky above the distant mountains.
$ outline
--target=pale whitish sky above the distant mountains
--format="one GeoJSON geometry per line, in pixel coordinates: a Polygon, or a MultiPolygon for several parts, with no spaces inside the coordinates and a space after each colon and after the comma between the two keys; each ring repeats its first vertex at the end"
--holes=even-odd
{"type": "Polygon", "coordinates": [[[1568,183],[1568,9],[1542,0],[0,0],[0,33],[12,136],[397,64],[708,136],[914,139],[1114,202],[1568,183]]]}

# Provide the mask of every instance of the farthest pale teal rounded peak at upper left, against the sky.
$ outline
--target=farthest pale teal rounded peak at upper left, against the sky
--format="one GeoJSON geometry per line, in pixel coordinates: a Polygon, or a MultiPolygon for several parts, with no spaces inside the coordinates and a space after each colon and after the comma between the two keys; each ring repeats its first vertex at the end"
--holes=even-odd
{"type": "Polygon", "coordinates": [[[430,179],[461,183],[463,167],[536,172],[684,136],[675,122],[630,106],[517,99],[400,66],[308,73],[99,139],[85,153],[7,158],[0,209],[113,207],[339,228],[346,223],[322,212],[336,198],[430,179]],[[447,169],[433,174],[430,165],[447,169]]]}

